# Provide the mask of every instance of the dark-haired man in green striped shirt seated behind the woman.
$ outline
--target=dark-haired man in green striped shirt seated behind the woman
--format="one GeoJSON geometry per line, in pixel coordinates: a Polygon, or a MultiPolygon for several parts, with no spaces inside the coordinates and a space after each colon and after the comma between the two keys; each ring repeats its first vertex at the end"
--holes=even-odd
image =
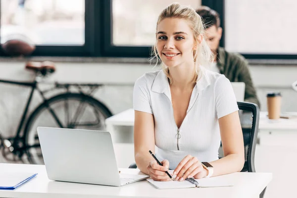
{"type": "Polygon", "coordinates": [[[245,101],[256,103],[260,107],[247,60],[240,54],[230,53],[219,47],[222,36],[219,14],[207,6],[201,6],[196,12],[202,18],[205,26],[205,40],[214,54],[214,62],[208,69],[224,74],[231,82],[244,82],[246,84],[245,101]]]}

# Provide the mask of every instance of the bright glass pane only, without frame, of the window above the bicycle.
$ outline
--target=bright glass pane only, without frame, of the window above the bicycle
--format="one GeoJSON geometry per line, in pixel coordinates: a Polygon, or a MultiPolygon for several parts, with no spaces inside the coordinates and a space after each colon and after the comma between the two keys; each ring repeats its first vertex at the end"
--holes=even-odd
{"type": "Polygon", "coordinates": [[[35,45],[85,44],[84,0],[1,0],[1,44],[13,35],[35,45]]]}

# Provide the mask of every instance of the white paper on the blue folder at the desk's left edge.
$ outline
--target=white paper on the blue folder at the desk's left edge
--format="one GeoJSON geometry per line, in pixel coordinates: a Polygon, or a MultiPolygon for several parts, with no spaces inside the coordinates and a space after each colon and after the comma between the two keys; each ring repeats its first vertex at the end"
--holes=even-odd
{"type": "Polygon", "coordinates": [[[0,172],[0,187],[13,187],[34,174],[35,173],[0,172]]]}

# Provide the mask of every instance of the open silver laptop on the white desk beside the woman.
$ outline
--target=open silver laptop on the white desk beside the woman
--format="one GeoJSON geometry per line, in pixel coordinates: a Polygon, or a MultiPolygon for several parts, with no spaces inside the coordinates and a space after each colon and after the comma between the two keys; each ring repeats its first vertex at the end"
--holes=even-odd
{"type": "Polygon", "coordinates": [[[123,186],[149,177],[119,173],[109,132],[50,127],[37,132],[50,180],[123,186]]]}

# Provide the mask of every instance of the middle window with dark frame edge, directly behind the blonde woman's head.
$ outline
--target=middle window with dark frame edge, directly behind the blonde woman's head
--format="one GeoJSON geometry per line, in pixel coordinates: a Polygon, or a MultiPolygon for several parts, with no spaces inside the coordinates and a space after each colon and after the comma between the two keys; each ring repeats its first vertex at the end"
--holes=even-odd
{"type": "Polygon", "coordinates": [[[201,0],[102,0],[101,55],[148,58],[155,42],[158,14],[172,2],[194,8],[201,5],[201,0]]]}

